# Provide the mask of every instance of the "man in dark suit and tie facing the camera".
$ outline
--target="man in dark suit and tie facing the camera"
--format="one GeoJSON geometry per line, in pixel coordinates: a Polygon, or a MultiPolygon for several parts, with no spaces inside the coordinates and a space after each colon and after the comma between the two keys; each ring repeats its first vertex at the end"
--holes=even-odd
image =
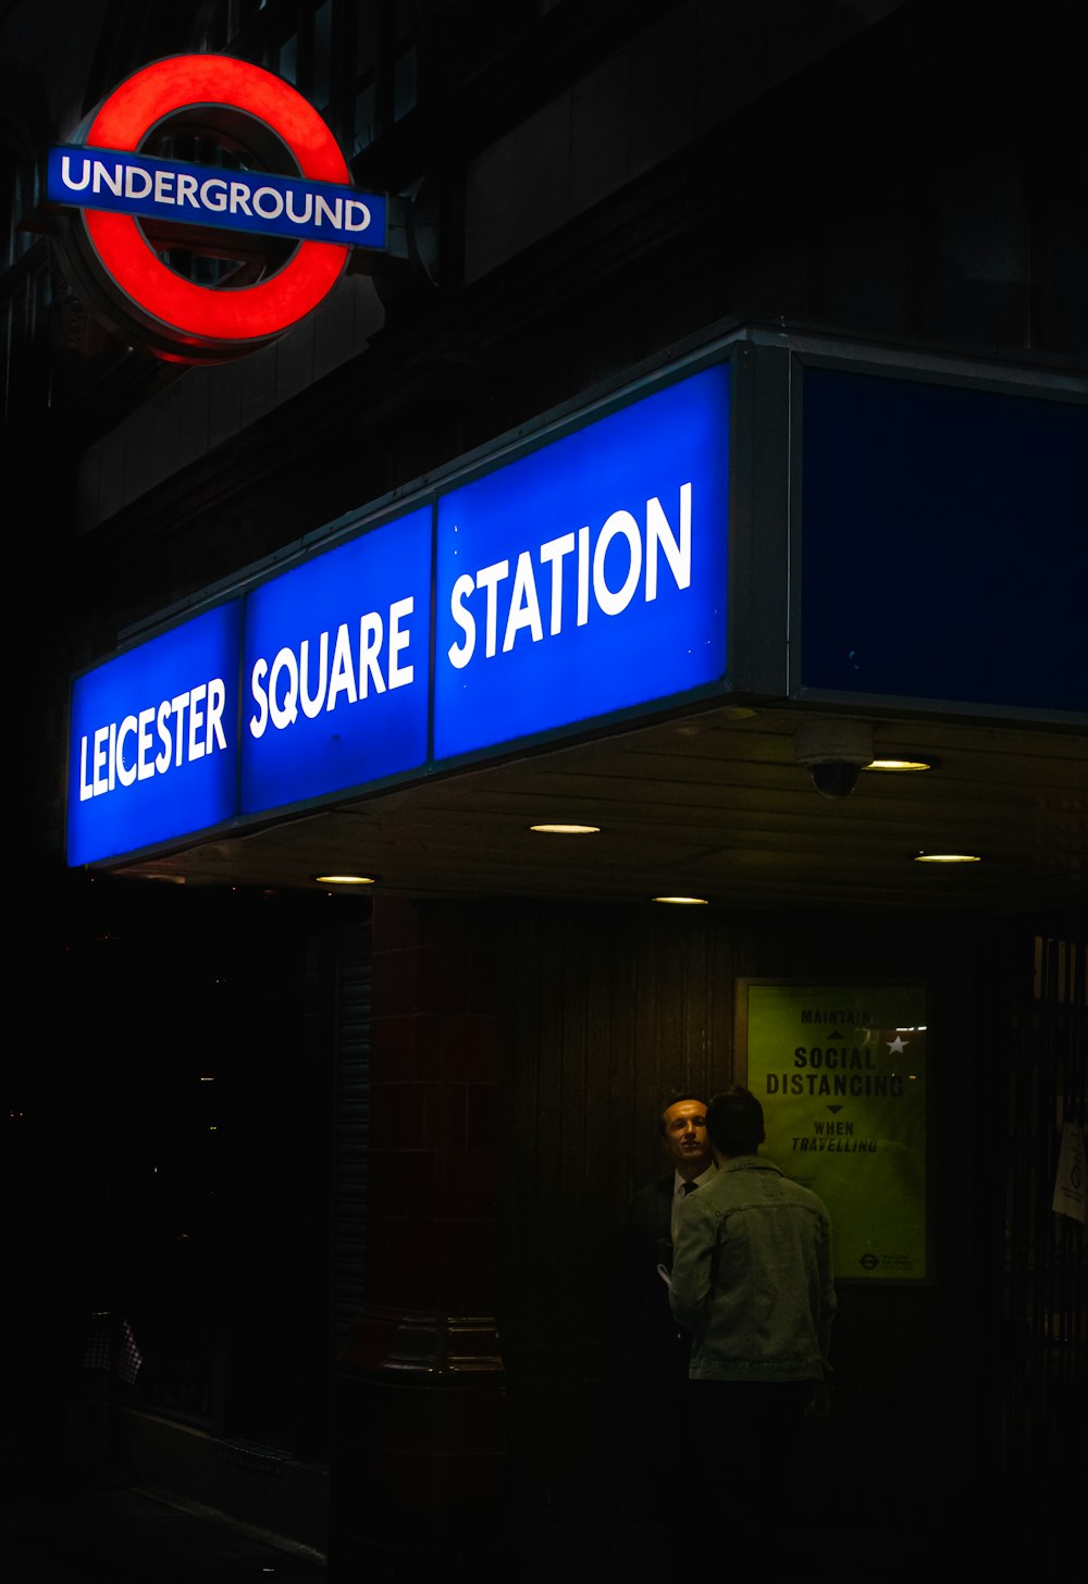
{"type": "Polygon", "coordinates": [[[716,1172],[703,1101],[670,1099],[660,1114],[660,1139],[668,1171],[630,1201],[616,1293],[622,1487],[635,1511],[645,1511],[648,1500],[660,1502],[662,1479],[689,1445],[690,1334],[673,1319],[665,1277],[679,1204],[716,1172]]]}

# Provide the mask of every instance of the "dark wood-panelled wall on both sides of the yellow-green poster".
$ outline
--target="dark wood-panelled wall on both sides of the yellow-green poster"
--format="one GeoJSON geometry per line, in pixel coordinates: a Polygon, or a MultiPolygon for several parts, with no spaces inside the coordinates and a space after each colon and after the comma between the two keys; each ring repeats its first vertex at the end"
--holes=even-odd
{"type": "MultiPolygon", "coordinates": [[[[743,977],[892,976],[930,987],[938,1280],[841,1286],[831,1435],[882,1448],[876,1489],[855,1470],[860,1505],[907,1489],[934,1413],[949,1462],[963,1454],[969,1383],[945,1338],[972,1334],[972,1266],[999,1259],[976,1247],[993,1177],[979,1101],[999,1045],[979,1038],[977,1020],[985,1007],[1004,1022],[1004,933],[969,917],[510,904],[500,1331],[512,1470],[527,1500],[570,1511],[607,1489],[616,1449],[610,1281],[627,1201],[662,1169],[662,1099],[675,1090],[709,1098],[740,1076],[743,977]],[[888,1486],[881,1468],[901,1478],[888,1486]]],[[[925,1459],[933,1464],[930,1451],[925,1459]]]]}

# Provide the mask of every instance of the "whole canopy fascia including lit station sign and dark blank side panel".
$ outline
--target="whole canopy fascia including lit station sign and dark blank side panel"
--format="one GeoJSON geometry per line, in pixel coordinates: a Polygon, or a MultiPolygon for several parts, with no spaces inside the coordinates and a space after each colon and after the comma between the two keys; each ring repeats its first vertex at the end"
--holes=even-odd
{"type": "Polygon", "coordinates": [[[725,695],[1088,722],[1069,379],[744,331],[315,540],[74,680],[70,865],[725,695]]]}

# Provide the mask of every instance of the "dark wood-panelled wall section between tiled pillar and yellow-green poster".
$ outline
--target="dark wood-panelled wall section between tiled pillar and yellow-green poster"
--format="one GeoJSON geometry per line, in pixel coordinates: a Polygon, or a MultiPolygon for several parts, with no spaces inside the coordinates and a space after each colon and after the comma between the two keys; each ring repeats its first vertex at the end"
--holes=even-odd
{"type": "Polygon", "coordinates": [[[610,1456],[608,1307],[627,1201],[676,1090],[732,1077],[735,946],[703,909],[512,914],[500,1332],[515,1467],[592,1500],[610,1456]]]}

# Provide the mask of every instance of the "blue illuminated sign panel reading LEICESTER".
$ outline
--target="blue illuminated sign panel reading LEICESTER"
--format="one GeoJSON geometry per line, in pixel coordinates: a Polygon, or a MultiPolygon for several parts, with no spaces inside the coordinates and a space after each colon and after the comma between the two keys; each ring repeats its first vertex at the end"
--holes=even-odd
{"type": "Polygon", "coordinates": [[[71,697],[68,862],[89,863],[238,813],[241,600],[81,676],[71,697]]]}

